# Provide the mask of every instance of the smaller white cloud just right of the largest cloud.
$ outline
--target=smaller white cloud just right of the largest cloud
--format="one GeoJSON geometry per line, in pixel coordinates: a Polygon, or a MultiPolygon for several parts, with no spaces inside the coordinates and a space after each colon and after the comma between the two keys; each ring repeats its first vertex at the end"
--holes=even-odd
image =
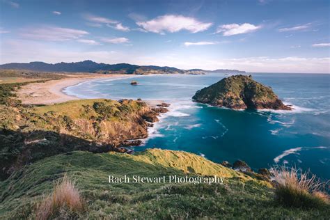
{"type": "Polygon", "coordinates": [[[216,33],[222,33],[223,36],[233,36],[241,33],[250,33],[261,29],[261,25],[256,26],[249,23],[244,24],[223,24],[218,26],[216,33]]]}

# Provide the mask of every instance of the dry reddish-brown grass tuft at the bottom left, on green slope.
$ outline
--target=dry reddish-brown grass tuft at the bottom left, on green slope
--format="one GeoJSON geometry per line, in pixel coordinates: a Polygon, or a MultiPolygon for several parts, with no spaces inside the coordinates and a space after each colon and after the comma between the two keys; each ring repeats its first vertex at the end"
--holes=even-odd
{"type": "Polygon", "coordinates": [[[84,201],[80,196],[79,190],[66,175],[61,182],[58,181],[54,185],[52,194],[45,197],[38,205],[36,208],[36,219],[49,219],[49,217],[55,214],[63,214],[63,210],[68,210],[72,213],[84,211],[84,201]]]}

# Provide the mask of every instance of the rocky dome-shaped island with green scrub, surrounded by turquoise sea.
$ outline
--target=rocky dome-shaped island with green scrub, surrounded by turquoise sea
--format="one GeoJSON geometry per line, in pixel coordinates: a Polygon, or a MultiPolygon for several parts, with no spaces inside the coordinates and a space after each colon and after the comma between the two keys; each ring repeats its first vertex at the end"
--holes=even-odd
{"type": "Polygon", "coordinates": [[[197,91],[194,101],[230,109],[292,110],[283,104],[272,88],[242,74],[221,79],[216,84],[197,91]]]}

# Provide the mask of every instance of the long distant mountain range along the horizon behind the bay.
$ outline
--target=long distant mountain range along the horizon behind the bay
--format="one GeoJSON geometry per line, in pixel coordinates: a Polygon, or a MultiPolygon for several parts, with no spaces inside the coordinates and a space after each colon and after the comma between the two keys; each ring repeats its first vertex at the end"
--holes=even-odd
{"type": "Polygon", "coordinates": [[[96,63],[94,61],[82,61],[74,63],[44,63],[44,62],[30,62],[30,63],[6,63],[0,65],[0,69],[11,70],[31,70],[40,72],[97,72],[104,74],[118,73],[118,74],[205,74],[206,72],[219,73],[242,73],[239,70],[180,70],[168,66],[157,65],[132,65],[129,63],[106,64],[96,63]]]}

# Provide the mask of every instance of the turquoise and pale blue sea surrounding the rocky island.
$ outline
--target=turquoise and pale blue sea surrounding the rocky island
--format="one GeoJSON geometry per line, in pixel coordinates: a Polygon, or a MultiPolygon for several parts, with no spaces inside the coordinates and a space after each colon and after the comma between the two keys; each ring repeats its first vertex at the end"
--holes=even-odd
{"type": "Polygon", "coordinates": [[[70,86],[65,92],[82,98],[142,98],[171,103],[155,127],[146,148],[185,150],[214,162],[242,159],[252,168],[273,164],[297,166],[330,179],[330,75],[252,74],[272,86],[294,111],[234,111],[191,101],[223,74],[152,75],[129,79],[102,79],[70,86]],[[131,80],[139,86],[131,86],[131,80]]]}

